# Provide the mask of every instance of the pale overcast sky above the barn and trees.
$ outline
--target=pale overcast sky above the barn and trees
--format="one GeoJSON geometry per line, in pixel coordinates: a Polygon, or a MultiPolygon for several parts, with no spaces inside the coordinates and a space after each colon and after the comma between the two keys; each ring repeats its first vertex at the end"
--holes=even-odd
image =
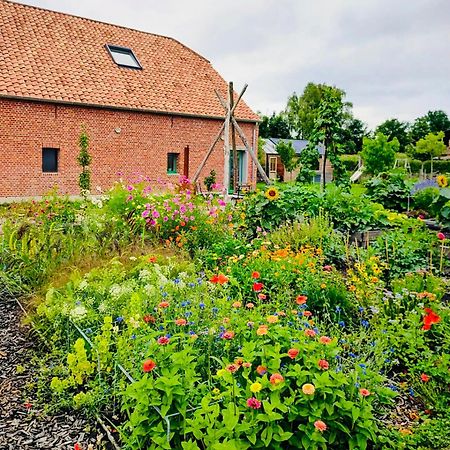
{"type": "Polygon", "coordinates": [[[450,115],[450,0],[20,0],[171,36],[211,61],[256,111],[306,83],[347,92],[371,128],[450,115]]]}

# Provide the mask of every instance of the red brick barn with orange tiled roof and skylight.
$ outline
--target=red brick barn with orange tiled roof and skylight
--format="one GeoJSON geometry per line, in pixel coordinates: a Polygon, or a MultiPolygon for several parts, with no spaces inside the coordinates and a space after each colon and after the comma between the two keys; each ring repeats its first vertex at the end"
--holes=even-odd
{"type": "MultiPolygon", "coordinates": [[[[192,176],[223,124],[214,90],[227,84],[175,39],[0,0],[0,198],[58,186],[78,194],[82,127],[90,137],[92,188],[136,174],[192,176]]],[[[258,116],[235,116],[254,149],[258,116]]],[[[241,182],[256,170],[237,139],[241,182]]],[[[204,167],[223,179],[223,141],[204,167]]]]}

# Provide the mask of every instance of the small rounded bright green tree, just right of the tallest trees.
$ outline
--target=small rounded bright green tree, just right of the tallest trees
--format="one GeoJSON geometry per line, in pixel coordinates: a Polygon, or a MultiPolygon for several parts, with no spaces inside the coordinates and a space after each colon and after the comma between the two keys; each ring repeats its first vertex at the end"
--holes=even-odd
{"type": "Polygon", "coordinates": [[[394,167],[395,153],[398,152],[400,143],[394,137],[389,140],[383,133],[377,133],[375,138],[364,138],[361,153],[364,168],[367,173],[378,175],[394,167]]]}

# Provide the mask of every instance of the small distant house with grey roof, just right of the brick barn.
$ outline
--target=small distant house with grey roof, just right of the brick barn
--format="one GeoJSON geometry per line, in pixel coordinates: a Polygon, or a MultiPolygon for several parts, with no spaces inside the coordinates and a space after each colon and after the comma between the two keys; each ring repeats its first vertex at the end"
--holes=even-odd
{"type": "MultiPolygon", "coordinates": [[[[263,150],[265,155],[265,170],[268,177],[271,180],[280,181],[293,181],[297,178],[299,168],[294,169],[292,172],[288,172],[281,162],[281,157],[277,152],[277,145],[280,141],[290,142],[294,147],[296,156],[300,156],[302,151],[308,145],[308,141],[305,139],[278,139],[278,138],[268,138],[265,139],[263,150]]],[[[322,177],[322,164],[323,164],[323,154],[324,147],[319,145],[317,147],[319,152],[319,165],[316,170],[316,176],[314,181],[320,181],[322,177]]],[[[330,161],[327,160],[325,164],[326,170],[326,182],[329,182],[333,178],[333,169],[331,167],[330,161]]]]}

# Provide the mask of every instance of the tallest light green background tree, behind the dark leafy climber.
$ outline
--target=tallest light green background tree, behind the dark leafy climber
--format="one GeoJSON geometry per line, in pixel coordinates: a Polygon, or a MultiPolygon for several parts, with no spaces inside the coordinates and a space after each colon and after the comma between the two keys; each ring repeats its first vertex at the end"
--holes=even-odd
{"type": "MultiPolygon", "coordinates": [[[[286,115],[293,134],[300,139],[310,139],[319,114],[320,102],[324,93],[332,89],[336,95],[345,97],[345,92],[335,86],[308,83],[301,95],[293,93],[287,102],[286,115]]],[[[352,104],[345,102],[344,113],[350,116],[352,104]]]]}

